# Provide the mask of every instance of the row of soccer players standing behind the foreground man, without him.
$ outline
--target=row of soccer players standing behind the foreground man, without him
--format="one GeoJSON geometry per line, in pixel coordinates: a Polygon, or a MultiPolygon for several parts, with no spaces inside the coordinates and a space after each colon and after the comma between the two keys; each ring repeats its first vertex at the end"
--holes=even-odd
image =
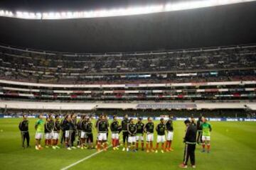
{"type": "MultiPolygon", "coordinates": [[[[192,124],[194,120],[192,119],[192,124]]],[[[198,119],[198,137],[201,138],[203,130],[203,151],[205,148],[205,142],[207,142],[208,152],[210,150],[210,124],[206,123],[206,119],[198,119]],[[200,124],[200,125],[198,125],[200,124]]],[[[28,120],[26,120],[26,115],[23,116],[23,121],[20,123],[19,128],[22,135],[22,145],[24,147],[24,141],[27,139],[29,141],[28,133],[28,120]]],[[[78,135],[77,147],[85,149],[87,147],[93,148],[93,131],[97,128],[97,141],[96,148],[98,150],[107,150],[107,136],[109,128],[112,132],[112,147],[113,149],[118,149],[119,146],[119,133],[122,132],[122,142],[123,151],[132,150],[136,152],[139,148],[139,142],[141,142],[142,150],[144,150],[144,133],[146,133],[146,152],[154,152],[153,141],[154,141],[154,129],[156,129],[157,139],[155,152],[158,152],[159,143],[161,143],[161,152],[169,152],[172,150],[171,142],[173,140],[174,128],[173,128],[173,118],[169,116],[169,120],[164,121],[161,118],[160,123],[154,128],[154,123],[152,118],[148,118],[147,123],[142,122],[142,118],[138,118],[137,123],[134,123],[134,119],[128,119],[128,115],[124,116],[121,125],[114,116],[112,123],[109,125],[107,117],[102,115],[95,123],[92,124],[92,119],[87,116],[83,116],[78,122],[76,115],[66,115],[63,120],[59,120],[59,116],[49,115],[46,118],[46,123],[43,121],[43,116],[39,115],[36,121],[36,149],[42,149],[41,139],[43,139],[43,134],[45,134],[45,145],[46,147],[52,146],[53,149],[58,147],[59,134],[61,132],[61,143],[65,140],[65,146],[67,149],[76,149],[74,146],[75,137],[78,135]]],[[[28,143],[29,145],[29,143],[28,143]]]]}

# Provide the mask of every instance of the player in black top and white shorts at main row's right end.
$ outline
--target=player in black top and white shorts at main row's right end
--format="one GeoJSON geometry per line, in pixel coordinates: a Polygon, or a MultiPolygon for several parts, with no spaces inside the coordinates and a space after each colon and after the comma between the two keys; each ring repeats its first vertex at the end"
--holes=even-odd
{"type": "Polygon", "coordinates": [[[169,115],[169,120],[166,122],[166,129],[167,129],[167,137],[166,137],[166,152],[173,151],[174,149],[171,148],[171,142],[174,139],[174,124],[173,124],[174,117],[169,115]]]}

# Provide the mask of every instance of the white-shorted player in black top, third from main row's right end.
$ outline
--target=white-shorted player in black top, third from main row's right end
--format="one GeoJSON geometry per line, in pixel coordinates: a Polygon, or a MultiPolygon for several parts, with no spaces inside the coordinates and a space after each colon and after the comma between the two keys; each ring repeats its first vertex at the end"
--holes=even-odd
{"type": "Polygon", "coordinates": [[[152,118],[148,118],[148,123],[144,125],[144,131],[146,132],[146,152],[149,153],[149,145],[150,151],[154,152],[153,149],[153,141],[154,141],[154,123],[152,118]]]}

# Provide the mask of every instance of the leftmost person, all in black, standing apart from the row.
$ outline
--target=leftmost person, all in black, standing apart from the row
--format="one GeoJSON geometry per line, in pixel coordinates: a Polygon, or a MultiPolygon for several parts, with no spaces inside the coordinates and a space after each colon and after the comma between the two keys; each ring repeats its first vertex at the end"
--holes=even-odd
{"type": "Polygon", "coordinates": [[[21,141],[22,141],[22,148],[25,149],[25,139],[27,143],[27,147],[29,146],[29,132],[28,132],[28,120],[27,120],[27,115],[23,115],[23,120],[21,123],[19,123],[18,128],[21,131],[21,141]]]}

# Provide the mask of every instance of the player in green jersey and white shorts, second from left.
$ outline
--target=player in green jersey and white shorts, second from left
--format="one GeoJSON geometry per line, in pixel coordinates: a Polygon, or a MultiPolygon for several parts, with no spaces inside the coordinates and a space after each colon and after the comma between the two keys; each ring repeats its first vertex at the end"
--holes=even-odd
{"type": "Polygon", "coordinates": [[[43,138],[43,115],[38,115],[38,120],[35,125],[36,129],[36,150],[43,149],[41,147],[41,139],[43,138]]]}

